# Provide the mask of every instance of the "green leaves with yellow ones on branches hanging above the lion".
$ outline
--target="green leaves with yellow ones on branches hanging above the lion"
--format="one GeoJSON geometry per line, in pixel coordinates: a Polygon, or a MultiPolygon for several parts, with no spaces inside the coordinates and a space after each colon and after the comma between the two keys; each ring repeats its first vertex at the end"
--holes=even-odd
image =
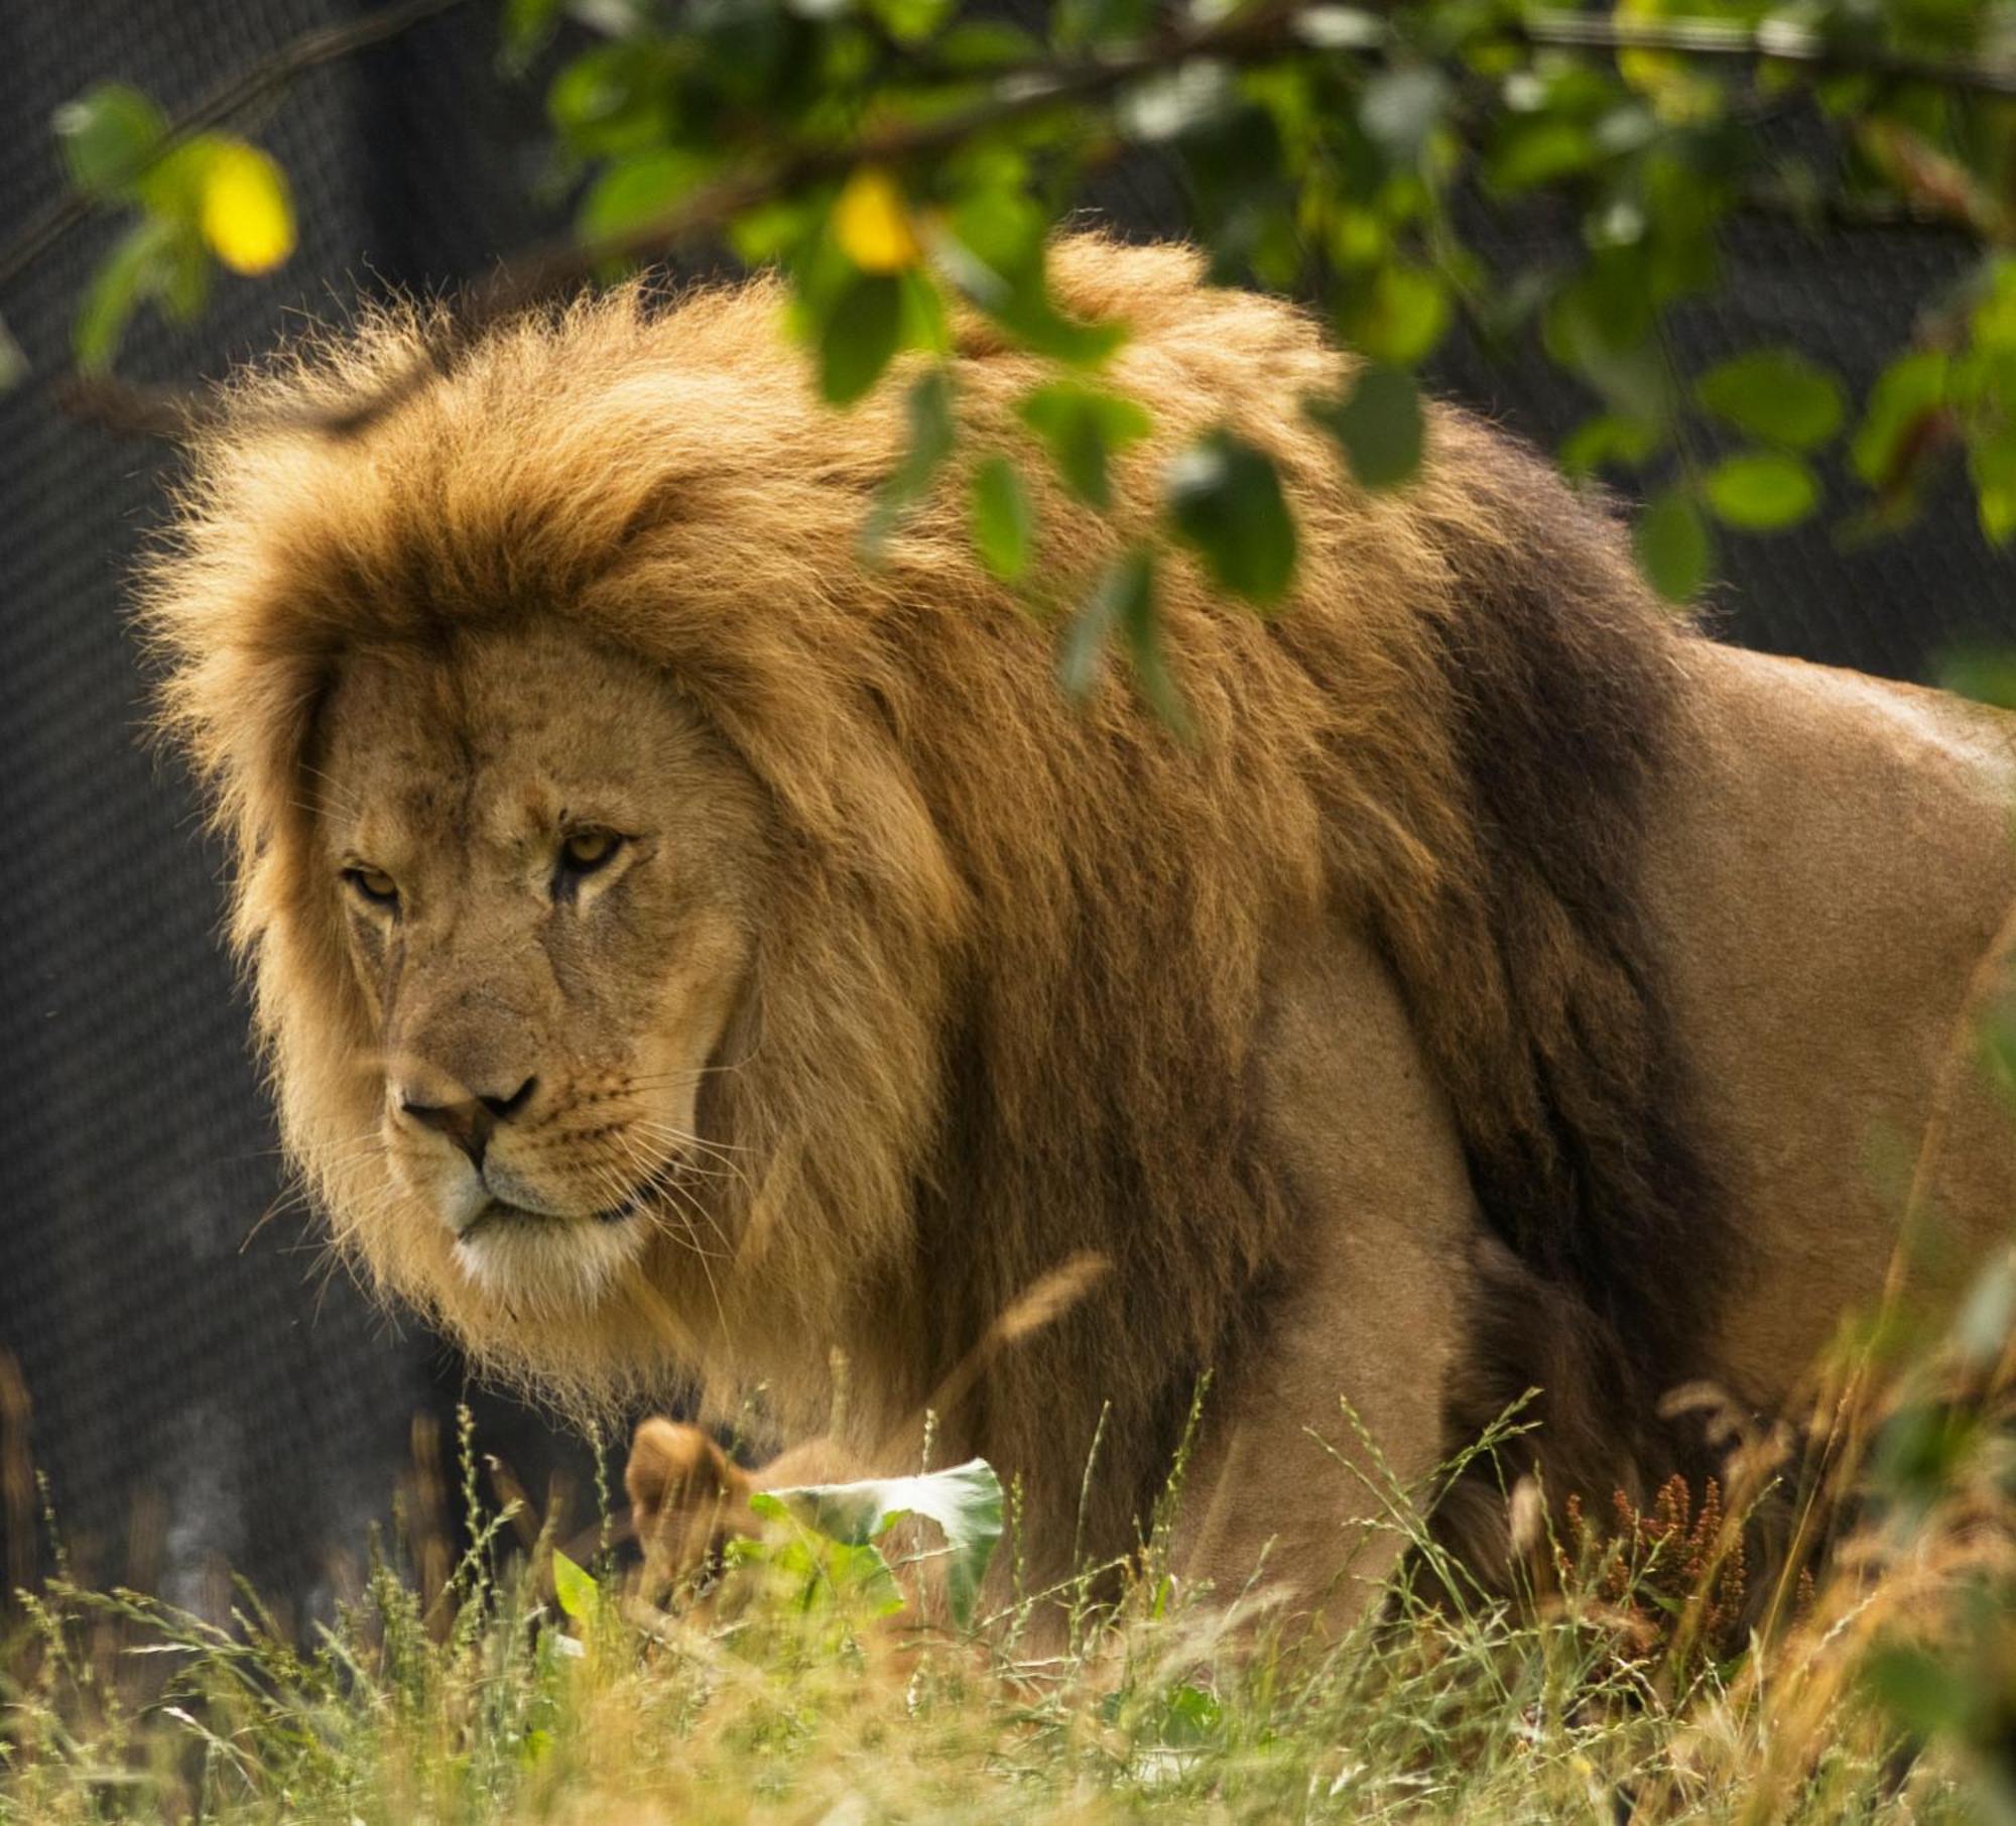
{"type": "MultiPolygon", "coordinates": [[[[1369,357],[1345,397],[1310,401],[1367,488],[1421,462],[1413,375],[1464,333],[1540,351],[1591,401],[1562,462],[1649,498],[1637,550],[1669,597],[1712,578],[1718,530],[1802,524],[1843,470],[1851,530],[1897,524],[1958,462],[1986,536],[2016,534],[2006,0],[1050,0],[1036,16],[1040,32],[962,0],[502,0],[500,64],[544,83],[552,177],[577,200],[577,256],[540,272],[607,274],[696,238],[774,262],[835,405],[941,355],[950,312],[974,312],[1048,369],[1026,417],[1070,490],[1107,506],[1109,464],[1145,429],[1103,379],[1127,327],[1050,302],[1044,240],[1113,157],[1147,155],[1181,179],[1220,276],[1312,300],[1369,357]],[[1480,212],[1542,234],[1496,238],[1494,266],[1480,212]],[[1933,224],[1976,260],[1923,300],[1865,401],[1820,351],[1679,373],[1671,316],[1728,284],[1726,230],[1756,216],[1790,234],[1933,224]]],[[[175,131],[123,85],[56,131],[75,195],[127,222],[79,308],[83,367],[111,363],[141,304],[194,314],[218,262],[286,256],[284,179],[244,141],[175,131]]],[[[958,437],[950,387],[911,385],[871,558],[958,437]]],[[[1290,595],[1292,518],[1236,427],[1208,431],[1163,496],[1165,532],[1226,591],[1290,595]]],[[[1030,496],[1004,460],[974,472],[972,530],[994,574],[1024,580],[1030,496]]],[[[1145,560],[1123,580],[1141,578],[1145,560]]],[[[1089,603],[1066,641],[1087,615],[1115,621],[1089,603]]]]}

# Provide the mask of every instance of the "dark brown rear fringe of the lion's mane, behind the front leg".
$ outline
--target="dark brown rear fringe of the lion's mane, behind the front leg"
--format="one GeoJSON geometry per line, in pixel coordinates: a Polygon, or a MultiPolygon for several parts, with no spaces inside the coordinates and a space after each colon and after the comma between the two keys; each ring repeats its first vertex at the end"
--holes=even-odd
{"type": "MultiPolygon", "coordinates": [[[[1480,431],[1464,425],[1460,439],[1480,431]]],[[[1502,1250],[1478,1260],[1474,1356],[1452,1393],[1450,1443],[1478,1439],[1528,1389],[1554,1495],[1649,1491],[1714,1459],[1661,1399],[1712,1371],[1714,1318],[1740,1274],[1730,1197],[1673,1028],[1641,911],[1643,830],[1671,758],[1669,635],[1621,532],[1522,449],[1472,478],[1508,530],[1480,544],[1429,522],[1458,580],[1439,663],[1460,705],[1458,754],[1478,810],[1482,893],[1454,919],[1496,969],[1510,1044],[1450,1030],[1445,984],[1409,984],[1502,1250]]],[[[1532,1451],[1514,1449],[1514,1467],[1532,1451]]],[[[1502,1538],[1478,1465],[1441,1518],[1502,1538]]]]}

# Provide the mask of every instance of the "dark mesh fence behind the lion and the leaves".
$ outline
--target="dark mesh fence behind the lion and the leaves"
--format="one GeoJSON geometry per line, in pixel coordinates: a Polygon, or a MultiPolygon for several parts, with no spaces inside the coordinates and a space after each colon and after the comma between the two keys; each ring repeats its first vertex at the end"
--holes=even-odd
{"type": "MultiPolygon", "coordinates": [[[[171,113],[343,0],[10,0],[0,10],[0,238],[60,185],[52,109],[125,79],[171,113]]],[[[304,77],[244,125],[286,165],[300,250],[226,280],[194,333],[135,322],[137,379],[222,373],[290,314],[337,312],[387,284],[486,272],[554,228],[532,204],[532,89],[494,75],[488,0],[304,77]]],[[[1121,171],[1105,214],[1175,226],[1155,167],[1121,171]]],[[[0,296],[34,379],[0,395],[0,1530],[10,1582],[36,1550],[24,1453],[95,1578],[214,1608],[218,1568],[288,1608],[327,1600],[413,1455],[415,1415],[452,1429],[462,1371],[437,1340],[375,1312],[278,1209],[246,1008],[218,943],[220,857],[187,784],[141,746],[145,685],[123,631],[123,576],[163,512],[171,458],[67,417],[50,393],[69,316],[113,228],[91,224],[0,296]],[[18,1377],[8,1375],[8,1358],[18,1377]],[[26,1389],[26,1425],[18,1387],[26,1389]],[[10,1395],[10,1391],[16,1391],[10,1395]]],[[[1508,244],[1520,230],[1482,224],[1508,244]]],[[[1546,248],[1544,228],[1524,234],[1546,248]]],[[[1679,331],[1685,365],[1796,343],[1863,383],[1913,310],[1964,270],[1923,232],[1740,230],[1736,282],[1679,331]]],[[[1538,363],[1447,353],[1435,385],[1536,437],[1587,411],[1538,363]]],[[[1962,639],[2016,635],[2006,556],[1960,488],[1905,538],[1841,550],[1824,526],[1730,540],[1724,633],[1897,677],[1962,639]]],[[[534,1489],[587,1455],[502,1397],[480,1443],[534,1489]]],[[[577,1516],[585,1504],[577,1497],[577,1516]]]]}

